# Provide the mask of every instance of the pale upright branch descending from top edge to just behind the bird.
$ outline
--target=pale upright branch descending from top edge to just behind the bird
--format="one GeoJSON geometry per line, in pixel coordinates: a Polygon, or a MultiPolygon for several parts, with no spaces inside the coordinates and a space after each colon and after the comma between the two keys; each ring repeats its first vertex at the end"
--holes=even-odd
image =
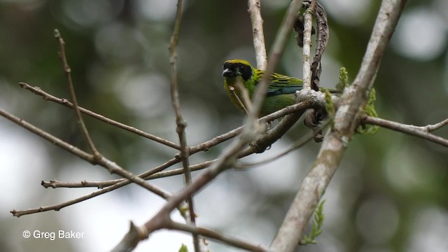
{"type": "Polygon", "coordinates": [[[265,46],[265,35],[263,34],[263,20],[261,18],[260,0],[247,1],[249,14],[252,22],[253,48],[255,48],[255,57],[257,58],[257,68],[266,69],[267,54],[265,46]]]}

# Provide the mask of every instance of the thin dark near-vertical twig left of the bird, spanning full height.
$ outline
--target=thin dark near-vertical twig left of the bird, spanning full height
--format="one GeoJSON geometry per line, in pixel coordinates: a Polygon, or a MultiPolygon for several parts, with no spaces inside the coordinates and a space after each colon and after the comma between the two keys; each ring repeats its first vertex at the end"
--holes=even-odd
{"type": "MultiPolygon", "coordinates": [[[[173,34],[171,37],[171,42],[169,45],[169,64],[171,64],[171,99],[172,99],[172,105],[174,109],[174,113],[176,115],[176,132],[179,135],[179,143],[181,144],[181,161],[183,166],[183,176],[185,179],[186,186],[190,185],[191,183],[191,174],[190,169],[188,168],[189,161],[188,156],[190,155],[190,150],[187,145],[187,138],[186,138],[186,132],[185,128],[187,127],[187,123],[185,120],[183,120],[183,116],[181,113],[181,102],[179,100],[179,87],[178,87],[178,81],[177,81],[177,52],[176,47],[179,43],[179,29],[181,27],[181,18],[182,18],[182,0],[177,1],[177,10],[176,10],[176,22],[174,23],[174,29],[173,34]]],[[[186,201],[188,202],[188,209],[189,209],[189,216],[187,217],[187,221],[191,223],[191,225],[196,225],[196,214],[195,214],[195,207],[194,207],[194,201],[193,196],[189,196],[186,201]],[[189,219],[188,219],[189,217],[189,219]]],[[[183,212],[186,213],[185,211],[183,212]]],[[[193,244],[195,246],[196,252],[203,251],[203,247],[200,244],[200,237],[197,234],[193,235],[193,244]]]]}

